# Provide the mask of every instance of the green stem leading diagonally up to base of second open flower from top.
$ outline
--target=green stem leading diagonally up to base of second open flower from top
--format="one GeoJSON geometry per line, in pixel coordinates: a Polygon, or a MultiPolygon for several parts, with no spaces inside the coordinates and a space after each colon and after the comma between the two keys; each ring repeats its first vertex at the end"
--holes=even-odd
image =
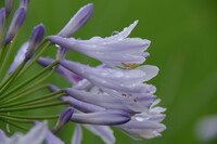
{"type": "Polygon", "coordinates": [[[55,61],[54,63],[52,63],[51,65],[47,66],[46,68],[43,68],[41,71],[39,71],[38,74],[36,74],[34,77],[25,80],[23,83],[18,84],[17,87],[15,87],[14,89],[12,89],[11,91],[9,91],[8,93],[3,94],[2,96],[8,96],[10,94],[12,94],[14,91],[21,89],[22,87],[26,86],[27,83],[31,82],[34,79],[38,78],[39,76],[41,76],[43,73],[46,73],[47,70],[49,70],[50,68],[52,68],[53,66],[58,65],[60,62],[55,61]]]}

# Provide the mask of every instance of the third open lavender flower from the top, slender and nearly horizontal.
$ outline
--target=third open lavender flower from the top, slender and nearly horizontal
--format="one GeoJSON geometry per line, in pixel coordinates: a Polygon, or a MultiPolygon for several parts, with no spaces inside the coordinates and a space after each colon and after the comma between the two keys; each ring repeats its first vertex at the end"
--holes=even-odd
{"type": "Polygon", "coordinates": [[[90,93],[86,91],[79,91],[76,89],[66,89],[66,93],[76,100],[105,107],[108,109],[122,109],[128,113],[138,113],[141,109],[148,109],[148,106],[155,99],[154,95],[138,97],[137,100],[128,101],[126,96],[124,101],[106,93],[90,93]]]}

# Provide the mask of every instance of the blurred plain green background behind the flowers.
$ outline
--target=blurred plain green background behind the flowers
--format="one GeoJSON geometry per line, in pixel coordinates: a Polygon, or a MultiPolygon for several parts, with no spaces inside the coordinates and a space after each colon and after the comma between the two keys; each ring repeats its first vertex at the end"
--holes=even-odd
{"type": "MultiPolygon", "coordinates": [[[[17,0],[14,1],[17,3],[17,0]]],[[[149,83],[157,88],[156,95],[162,99],[159,106],[167,108],[167,117],[163,121],[167,130],[162,138],[146,141],[135,141],[115,131],[116,143],[200,144],[194,133],[196,121],[203,116],[217,114],[217,1],[30,0],[18,42],[27,40],[33,27],[39,23],[44,24],[47,36],[56,34],[80,6],[90,2],[94,3],[93,16],[73,37],[108,37],[139,19],[130,37],[152,41],[148,50],[151,56],[145,64],[161,69],[149,83]]],[[[54,57],[55,49],[50,49],[46,55],[54,57]]],[[[90,65],[99,63],[73,52],[67,57],[90,65]]],[[[69,87],[59,76],[50,82],[62,88],[69,87]]],[[[69,123],[59,135],[69,143],[73,131],[74,125],[69,123]]],[[[103,142],[85,130],[82,143],[103,142]]]]}

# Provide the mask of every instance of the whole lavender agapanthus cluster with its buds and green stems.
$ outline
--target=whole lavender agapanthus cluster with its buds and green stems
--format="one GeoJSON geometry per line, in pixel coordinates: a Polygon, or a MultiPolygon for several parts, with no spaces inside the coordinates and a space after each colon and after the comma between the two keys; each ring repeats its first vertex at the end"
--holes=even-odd
{"type": "MultiPolygon", "coordinates": [[[[20,1],[20,8],[10,26],[7,26],[5,22],[11,12],[12,0],[5,0],[5,8],[0,10],[0,58],[4,58],[0,69],[5,67],[4,63],[26,17],[28,3],[29,0],[20,1]],[[4,54],[7,49],[8,53],[4,54]]],[[[146,83],[157,75],[158,68],[142,65],[149,56],[144,51],[151,42],[141,38],[128,38],[138,21],[107,38],[93,37],[89,40],[71,38],[89,21],[92,12],[93,4],[82,6],[60,32],[46,38],[43,38],[44,27],[39,24],[34,28],[29,40],[21,47],[13,64],[0,81],[0,121],[5,122],[5,127],[14,126],[21,129],[25,128],[16,122],[30,122],[35,123],[35,128],[26,135],[15,134],[12,138],[8,138],[1,130],[0,144],[28,144],[35,139],[37,139],[34,141],[35,144],[42,141],[46,144],[63,144],[64,142],[56,138],[55,133],[67,122],[76,125],[73,144],[81,143],[82,127],[100,136],[106,144],[115,143],[111,126],[137,140],[161,136],[161,132],[165,130],[165,126],[161,123],[165,118],[162,114],[165,108],[156,107],[159,103],[154,95],[156,88],[146,83]],[[59,49],[56,57],[41,56],[51,44],[59,49]],[[90,67],[65,60],[67,51],[77,51],[102,64],[90,67]],[[35,62],[44,68],[25,81],[16,83],[35,62]],[[64,89],[54,84],[40,86],[54,71],[72,86],[64,89]],[[36,82],[33,82],[34,80],[36,82]],[[51,92],[49,94],[23,100],[24,96],[48,88],[51,92]],[[58,105],[66,105],[66,109],[54,116],[12,114],[58,105]],[[41,119],[50,118],[58,119],[52,130],[48,130],[47,121],[39,122],[41,119]]]]}

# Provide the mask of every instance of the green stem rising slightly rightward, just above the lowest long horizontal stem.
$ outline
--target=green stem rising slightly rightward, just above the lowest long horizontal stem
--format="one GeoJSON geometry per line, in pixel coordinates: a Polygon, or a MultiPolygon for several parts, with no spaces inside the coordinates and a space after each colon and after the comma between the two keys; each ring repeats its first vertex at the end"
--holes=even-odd
{"type": "Polygon", "coordinates": [[[69,104],[69,103],[68,102],[53,102],[53,103],[48,103],[48,104],[39,104],[39,105],[25,106],[25,107],[2,108],[2,109],[0,109],[0,113],[30,110],[30,109],[44,108],[44,107],[51,107],[51,106],[56,106],[56,105],[65,105],[65,104],[69,104]]]}

